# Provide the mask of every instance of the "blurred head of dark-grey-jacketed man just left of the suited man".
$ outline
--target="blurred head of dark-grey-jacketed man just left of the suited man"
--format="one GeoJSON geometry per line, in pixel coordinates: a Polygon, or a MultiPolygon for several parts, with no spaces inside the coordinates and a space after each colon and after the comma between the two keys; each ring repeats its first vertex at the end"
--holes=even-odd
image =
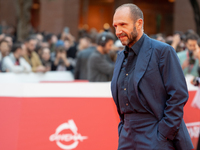
{"type": "Polygon", "coordinates": [[[102,32],[97,36],[97,45],[101,47],[102,54],[108,54],[112,49],[115,37],[111,32],[102,32]]]}

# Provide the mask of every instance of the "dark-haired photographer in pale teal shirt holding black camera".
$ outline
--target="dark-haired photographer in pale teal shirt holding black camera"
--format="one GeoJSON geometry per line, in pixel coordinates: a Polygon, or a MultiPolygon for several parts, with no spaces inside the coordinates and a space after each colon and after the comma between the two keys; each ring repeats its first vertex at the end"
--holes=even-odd
{"type": "Polygon", "coordinates": [[[183,69],[183,73],[191,74],[195,77],[198,76],[198,59],[194,58],[194,52],[196,50],[197,40],[199,36],[196,33],[190,33],[186,37],[186,47],[187,50],[179,52],[177,55],[180,59],[181,67],[183,69]]]}

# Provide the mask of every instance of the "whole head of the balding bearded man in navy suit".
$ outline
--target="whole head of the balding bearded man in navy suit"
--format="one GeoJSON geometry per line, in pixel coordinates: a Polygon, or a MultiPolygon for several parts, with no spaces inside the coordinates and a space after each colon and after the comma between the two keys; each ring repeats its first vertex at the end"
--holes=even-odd
{"type": "Polygon", "coordinates": [[[116,36],[124,46],[131,47],[143,34],[143,13],[134,4],[119,6],[113,17],[116,36]]]}

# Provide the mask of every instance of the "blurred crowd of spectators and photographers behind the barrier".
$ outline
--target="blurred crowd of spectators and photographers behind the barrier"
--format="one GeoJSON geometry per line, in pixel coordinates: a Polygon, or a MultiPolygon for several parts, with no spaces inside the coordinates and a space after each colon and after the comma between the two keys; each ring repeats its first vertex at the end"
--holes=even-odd
{"type": "MultiPolygon", "coordinates": [[[[200,38],[197,33],[188,30],[186,33],[175,32],[172,36],[156,34],[150,37],[168,43],[176,50],[185,75],[199,77],[200,38]]],[[[17,42],[14,34],[2,32],[0,71],[71,71],[75,79],[110,81],[117,52],[123,48],[109,30],[101,33],[95,29],[81,30],[77,40],[65,30],[59,35],[34,33],[23,42],[17,42]]]]}

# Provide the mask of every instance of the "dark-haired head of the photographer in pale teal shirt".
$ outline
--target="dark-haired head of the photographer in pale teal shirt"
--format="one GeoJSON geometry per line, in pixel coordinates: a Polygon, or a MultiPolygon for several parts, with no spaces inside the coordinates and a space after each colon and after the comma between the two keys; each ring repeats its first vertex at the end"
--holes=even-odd
{"type": "Polygon", "coordinates": [[[199,39],[199,36],[196,33],[188,34],[186,37],[186,47],[189,51],[195,51],[197,40],[199,39]]]}

